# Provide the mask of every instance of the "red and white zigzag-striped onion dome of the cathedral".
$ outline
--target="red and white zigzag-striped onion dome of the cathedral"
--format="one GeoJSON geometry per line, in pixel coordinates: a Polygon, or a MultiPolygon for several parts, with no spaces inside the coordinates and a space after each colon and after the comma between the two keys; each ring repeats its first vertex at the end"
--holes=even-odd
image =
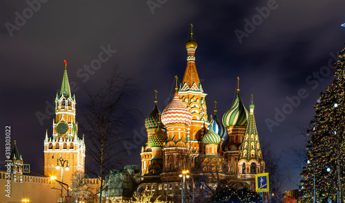
{"type": "Polygon", "coordinates": [[[187,124],[192,122],[192,114],[175,93],[175,97],[161,113],[161,122],[166,124],[187,124]]]}

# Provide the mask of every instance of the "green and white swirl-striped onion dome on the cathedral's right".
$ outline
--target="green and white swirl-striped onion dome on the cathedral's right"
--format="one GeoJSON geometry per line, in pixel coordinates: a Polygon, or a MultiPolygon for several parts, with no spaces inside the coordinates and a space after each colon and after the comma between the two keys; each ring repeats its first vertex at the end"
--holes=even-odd
{"type": "Polygon", "coordinates": [[[242,104],[239,99],[239,93],[237,90],[237,96],[233,103],[233,106],[226,111],[223,115],[223,124],[226,127],[230,126],[246,126],[248,123],[248,110],[242,104]]]}

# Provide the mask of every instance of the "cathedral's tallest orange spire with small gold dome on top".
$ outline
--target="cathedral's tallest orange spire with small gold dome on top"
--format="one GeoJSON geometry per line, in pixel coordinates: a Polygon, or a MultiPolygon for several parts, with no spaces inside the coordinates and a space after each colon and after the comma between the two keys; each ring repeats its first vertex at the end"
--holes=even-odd
{"type": "Polygon", "coordinates": [[[197,43],[193,39],[193,24],[190,24],[190,40],[186,43],[186,49],[188,52],[187,67],[184,72],[184,78],[182,79],[181,90],[199,90],[203,91],[200,84],[199,75],[197,74],[197,68],[195,66],[195,49],[197,43]]]}

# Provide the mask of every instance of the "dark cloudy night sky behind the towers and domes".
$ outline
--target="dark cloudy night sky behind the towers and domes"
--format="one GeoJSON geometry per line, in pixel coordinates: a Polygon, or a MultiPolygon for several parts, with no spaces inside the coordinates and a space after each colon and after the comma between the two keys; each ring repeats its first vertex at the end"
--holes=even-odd
{"type": "MultiPolygon", "coordinates": [[[[260,141],[282,155],[284,190],[297,189],[301,169],[289,145],[304,148],[299,127],[308,125],[319,93],[333,81],[335,56],[345,42],[344,1],[41,1],[28,1],[36,2],[33,10],[26,1],[0,1],[2,159],[10,125],[23,161],[43,173],[43,139],[46,129],[51,137],[53,119],[46,107],[61,88],[65,58],[77,121],[85,90],[119,72],[137,86],[128,104],[142,114],[130,121],[126,136],[142,134],[153,90],[163,111],[174,76],[182,80],[193,23],[208,115],[215,100],[219,117],[230,108],[239,77],[247,109],[254,95],[260,141]],[[108,60],[90,74],[83,70],[104,49],[110,50],[108,60]]],[[[144,142],[124,164],[141,164],[144,142]]]]}

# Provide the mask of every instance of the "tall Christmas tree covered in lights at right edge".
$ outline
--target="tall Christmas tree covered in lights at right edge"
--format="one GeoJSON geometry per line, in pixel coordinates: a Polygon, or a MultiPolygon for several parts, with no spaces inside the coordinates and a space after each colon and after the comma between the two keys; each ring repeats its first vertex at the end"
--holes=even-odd
{"type": "Polygon", "coordinates": [[[321,93],[308,130],[307,165],[298,202],[344,202],[345,194],[345,48],[335,63],[335,80],[321,93]]]}

